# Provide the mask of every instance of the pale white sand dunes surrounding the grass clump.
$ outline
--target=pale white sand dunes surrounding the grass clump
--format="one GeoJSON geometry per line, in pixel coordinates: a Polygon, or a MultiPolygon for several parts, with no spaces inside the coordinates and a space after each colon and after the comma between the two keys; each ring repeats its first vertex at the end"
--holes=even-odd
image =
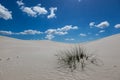
{"type": "Polygon", "coordinates": [[[72,44],[0,37],[0,80],[120,80],[120,34],[83,44],[101,60],[83,72],[57,69],[57,51],[72,44]]]}

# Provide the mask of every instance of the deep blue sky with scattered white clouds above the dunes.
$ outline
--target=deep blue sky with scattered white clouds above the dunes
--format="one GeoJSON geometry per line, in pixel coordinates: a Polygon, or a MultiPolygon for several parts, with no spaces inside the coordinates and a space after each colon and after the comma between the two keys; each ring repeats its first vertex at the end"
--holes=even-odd
{"type": "Polygon", "coordinates": [[[120,33],[120,0],[0,0],[0,35],[85,42],[120,33]]]}

